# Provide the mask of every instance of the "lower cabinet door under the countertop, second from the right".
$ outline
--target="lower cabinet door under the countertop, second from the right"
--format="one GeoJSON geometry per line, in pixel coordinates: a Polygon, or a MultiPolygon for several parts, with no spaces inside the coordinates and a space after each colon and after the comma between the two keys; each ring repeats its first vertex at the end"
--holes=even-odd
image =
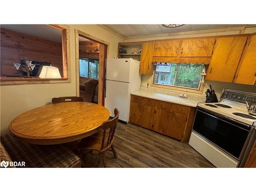
{"type": "Polygon", "coordinates": [[[169,117],[170,117],[170,111],[157,108],[156,114],[154,117],[153,130],[155,132],[166,135],[169,117]]]}

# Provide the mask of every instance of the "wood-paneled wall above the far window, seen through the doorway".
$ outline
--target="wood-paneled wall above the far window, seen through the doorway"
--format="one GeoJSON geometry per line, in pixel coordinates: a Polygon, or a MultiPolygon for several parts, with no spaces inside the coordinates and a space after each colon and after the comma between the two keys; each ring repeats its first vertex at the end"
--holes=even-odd
{"type": "Polygon", "coordinates": [[[79,57],[99,58],[99,53],[95,52],[99,48],[99,43],[94,41],[79,41],[79,57]]]}

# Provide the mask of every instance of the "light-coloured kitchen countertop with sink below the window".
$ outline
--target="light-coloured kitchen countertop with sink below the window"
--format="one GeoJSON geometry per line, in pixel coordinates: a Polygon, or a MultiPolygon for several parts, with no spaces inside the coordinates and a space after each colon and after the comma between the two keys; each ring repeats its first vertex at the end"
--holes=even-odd
{"type": "Polygon", "coordinates": [[[160,91],[156,89],[142,88],[138,91],[132,92],[132,95],[157,99],[161,101],[167,101],[187,106],[197,106],[198,102],[205,102],[203,97],[190,96],[187,94],[187,98],[178,97],[179,93],[172,93],[167,91],[160,91]]]}

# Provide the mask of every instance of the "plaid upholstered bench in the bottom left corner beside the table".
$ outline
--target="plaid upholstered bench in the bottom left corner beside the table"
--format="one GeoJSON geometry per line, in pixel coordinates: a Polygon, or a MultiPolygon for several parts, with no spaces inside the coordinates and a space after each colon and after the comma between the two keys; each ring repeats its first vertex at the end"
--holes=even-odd
{"type": "Polygon", "coordinates": [[[81,167],[80,158],[61,144],[28,144],[8,134],[1,136],[0,145],[0,162],[8,161],[9,155],[11,159],[9,161],[25,162],[25,167],[81,167]]]}

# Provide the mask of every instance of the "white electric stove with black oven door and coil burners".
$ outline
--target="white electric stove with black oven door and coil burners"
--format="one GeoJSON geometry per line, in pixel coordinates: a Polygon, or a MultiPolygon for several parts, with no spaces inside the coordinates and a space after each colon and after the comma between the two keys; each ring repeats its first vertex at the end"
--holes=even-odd
{"type": "Polygon", "coordinates": [[[216,167],[245,164],[256,135],[245,101],[256,103],[256,94],[224,89],[220,102],[198,103],[189,145],[216,167]]]}

